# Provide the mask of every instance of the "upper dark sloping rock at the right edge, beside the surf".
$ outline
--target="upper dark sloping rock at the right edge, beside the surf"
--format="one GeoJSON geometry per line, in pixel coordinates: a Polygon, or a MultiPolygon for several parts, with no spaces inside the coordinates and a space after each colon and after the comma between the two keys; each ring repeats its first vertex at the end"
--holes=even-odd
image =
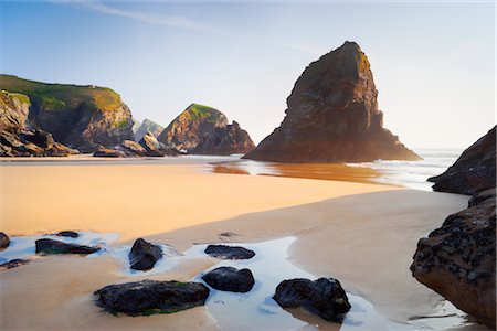
{"type": "Polygon", "coordinates": [[[468,147],[444,173],[429,179],[433,190],[475,194],[495,188],[496,127],[468,147]]]}

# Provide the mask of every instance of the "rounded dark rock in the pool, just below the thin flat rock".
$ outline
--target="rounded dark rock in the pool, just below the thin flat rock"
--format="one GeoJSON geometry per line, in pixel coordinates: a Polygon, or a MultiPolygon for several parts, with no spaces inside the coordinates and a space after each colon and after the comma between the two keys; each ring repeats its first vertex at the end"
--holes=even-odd
{"type": "Polygon", "coordinates": [[[202,276],[210,286],[221,291],[242,292],[250,291],[255,284],[254,276],[248,269],[220,267],[202,276]]]}

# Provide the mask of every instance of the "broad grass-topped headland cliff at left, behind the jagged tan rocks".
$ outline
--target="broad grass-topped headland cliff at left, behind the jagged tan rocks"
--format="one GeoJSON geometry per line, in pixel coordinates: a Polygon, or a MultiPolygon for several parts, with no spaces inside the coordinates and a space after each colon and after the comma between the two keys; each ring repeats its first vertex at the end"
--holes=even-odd
{"type": "MultiPolygon", "coordinates": [[[[95,151],[101,145],[113,147],[134,139],[131,113],[109,88],[46,84],[10,75],[0,75],[0,88],[24,95],[30,103],[30,126],[72,148],[95,151]]],[[[19,116],[9,122],[22,120],[19,116]]]]}

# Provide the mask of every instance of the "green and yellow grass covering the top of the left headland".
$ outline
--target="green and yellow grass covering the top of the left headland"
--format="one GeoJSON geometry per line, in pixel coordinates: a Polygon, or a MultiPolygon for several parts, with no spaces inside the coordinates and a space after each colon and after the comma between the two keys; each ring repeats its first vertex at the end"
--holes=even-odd
{"type": "Polygon", "coordinates": [[[74,109],[86,103],[104,111],[120,106],[120,96],[106,87],[49,84],[0,75],[0,89],[27,95],[33,104],[45,110],[74,109]]]}

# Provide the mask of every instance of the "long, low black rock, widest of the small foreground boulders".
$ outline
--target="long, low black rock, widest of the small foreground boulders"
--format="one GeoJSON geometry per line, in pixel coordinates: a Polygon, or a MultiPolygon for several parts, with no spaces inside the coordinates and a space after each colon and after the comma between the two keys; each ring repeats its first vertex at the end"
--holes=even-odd
{"type": "Polygon", "coordinates": [[[209,288],[199,282],[141,280],[106,286],[95,292],[105,310],[130,316],[170,313],[203,306],[209,288]]]}

